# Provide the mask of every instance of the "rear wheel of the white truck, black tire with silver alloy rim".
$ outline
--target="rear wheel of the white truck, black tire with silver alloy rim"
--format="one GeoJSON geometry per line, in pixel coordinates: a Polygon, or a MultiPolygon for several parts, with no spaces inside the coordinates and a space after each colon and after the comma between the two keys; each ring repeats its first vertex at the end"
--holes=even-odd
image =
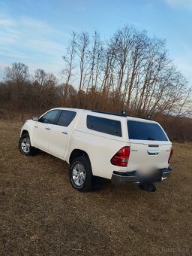
{"type": "Polygon", "coordinates": [[[72,161],[70,181],[72,187],[80,192],[92,190],[92,166],[87,157],[77,157],[72,161]]]}

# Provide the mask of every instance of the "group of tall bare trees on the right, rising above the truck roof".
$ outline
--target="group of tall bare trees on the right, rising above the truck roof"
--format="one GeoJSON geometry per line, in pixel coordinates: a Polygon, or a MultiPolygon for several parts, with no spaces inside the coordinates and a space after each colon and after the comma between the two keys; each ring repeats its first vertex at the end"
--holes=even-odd
{"type": "Polygon", "coordinates": [[[136,115],[191,113],[191,88],[169,59],[166,42],[145,31],[124,26],[106,42],[97,32],[73,33],[63,58],[65,84],[75,81],[78,87],[77,107],[136,115]]]}

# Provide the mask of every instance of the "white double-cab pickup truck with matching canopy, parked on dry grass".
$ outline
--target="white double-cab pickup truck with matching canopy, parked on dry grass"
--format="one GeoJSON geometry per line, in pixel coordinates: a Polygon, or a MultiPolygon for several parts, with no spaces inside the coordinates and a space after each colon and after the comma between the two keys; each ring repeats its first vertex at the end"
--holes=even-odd
{"type": "Polygon", "coordinates": [[[65,160],[72,186],[83,192],[101,178],[155,190],[153,182],[171,172],[172,143],[160,124],[123,114],[53,108],[26,120],[19,147],[25,155],[38,148],[65,160]]]}

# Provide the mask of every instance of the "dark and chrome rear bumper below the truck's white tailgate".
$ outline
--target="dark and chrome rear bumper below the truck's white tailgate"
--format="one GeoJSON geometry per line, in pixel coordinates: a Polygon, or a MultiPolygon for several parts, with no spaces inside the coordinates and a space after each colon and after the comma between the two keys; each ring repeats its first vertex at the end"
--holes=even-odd
{"type": "Polygon", "coordinates": [[[153,183],[159,182],[166,179],[171,173],[171,168],[157,169],[157,171],[150,176],[141,176],[138,172],[113,172],[111,182],[113,184],[143,184],[143,183],[153,183]]]}

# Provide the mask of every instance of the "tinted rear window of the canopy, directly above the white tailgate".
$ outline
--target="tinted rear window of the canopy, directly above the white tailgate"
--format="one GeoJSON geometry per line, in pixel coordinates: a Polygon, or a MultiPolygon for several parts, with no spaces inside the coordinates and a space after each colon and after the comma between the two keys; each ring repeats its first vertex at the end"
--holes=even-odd
{"type": "Polygon", "coordinates": [[[166,134],[157,123],[127,120],[129,139],[168,141],[166,134]]]}

